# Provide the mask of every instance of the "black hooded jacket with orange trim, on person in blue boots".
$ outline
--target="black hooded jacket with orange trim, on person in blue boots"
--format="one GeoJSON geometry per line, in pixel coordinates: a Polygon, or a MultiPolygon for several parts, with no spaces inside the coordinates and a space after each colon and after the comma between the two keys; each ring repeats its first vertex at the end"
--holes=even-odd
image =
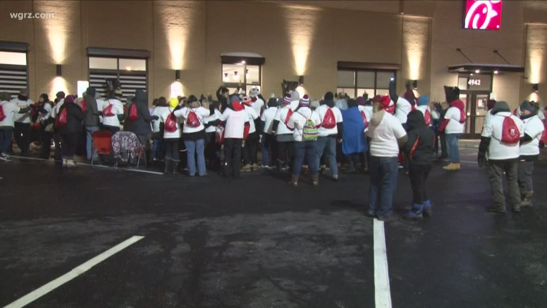
{"type": "Polygon", "coordinates": [[[426,126],[423,113],[420,110],[409,112],[406,119],[409,140],[403,147],[403,151],[409,159],[409,163],[416,165],[428,165],[433,163],[433,146],[435,134],[426,126]]]}

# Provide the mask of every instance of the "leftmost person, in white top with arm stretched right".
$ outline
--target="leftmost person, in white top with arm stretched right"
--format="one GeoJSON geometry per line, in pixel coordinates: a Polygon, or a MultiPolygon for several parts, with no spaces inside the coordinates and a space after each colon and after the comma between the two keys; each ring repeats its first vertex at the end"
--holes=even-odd
{"type": "Polygon", "coordinates": [[[30,106],[21,108],[14,101],[9,101],[10,94],[0,93],[0,160],[11,161],[8,155],[8,148],[11,145],[11,137],[15,126],[15,118],[24,115],[30,110],[30,106]]]}

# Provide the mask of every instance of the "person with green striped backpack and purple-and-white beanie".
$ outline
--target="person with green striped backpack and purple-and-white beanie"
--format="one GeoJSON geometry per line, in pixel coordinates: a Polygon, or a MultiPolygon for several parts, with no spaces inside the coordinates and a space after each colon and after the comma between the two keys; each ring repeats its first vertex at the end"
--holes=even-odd
{"type": "Polygon", "coordinates": [[[317,159],[316,151],[319,126],[321,126],[321,118],[317,112],[310,109],[310,98],[305,94],[300,99],[298,109],[287,122],[287,128],[293,131],[294,138],[294,164],[290,185],[298,185],[305,157],[309,164],[312,185],[319,185],[319,159],[317,159]]]}

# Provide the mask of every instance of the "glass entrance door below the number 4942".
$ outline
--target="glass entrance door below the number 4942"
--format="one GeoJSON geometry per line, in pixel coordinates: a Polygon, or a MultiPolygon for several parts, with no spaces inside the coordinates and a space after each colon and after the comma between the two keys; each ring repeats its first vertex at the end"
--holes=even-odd
{"type": "Polygon", "coordinates": [[[464,96],[461,100],[464,101],[465,112],[467,112],[463,138],[478,139],[488,111],[486,103],[490,99],[490,93],[473,91],[463,93],[460,96],[464,96]]]}

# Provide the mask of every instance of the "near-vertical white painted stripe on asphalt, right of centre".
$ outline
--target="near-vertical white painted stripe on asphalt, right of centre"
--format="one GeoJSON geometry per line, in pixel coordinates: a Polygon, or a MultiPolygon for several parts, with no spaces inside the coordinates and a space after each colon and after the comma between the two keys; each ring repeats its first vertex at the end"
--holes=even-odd
{"type": "Polygon", "coordinates": [[[374,219],[374,301],[376,308],[391,308],[387,270],[386,236],[383,221],[374,219]]]}

